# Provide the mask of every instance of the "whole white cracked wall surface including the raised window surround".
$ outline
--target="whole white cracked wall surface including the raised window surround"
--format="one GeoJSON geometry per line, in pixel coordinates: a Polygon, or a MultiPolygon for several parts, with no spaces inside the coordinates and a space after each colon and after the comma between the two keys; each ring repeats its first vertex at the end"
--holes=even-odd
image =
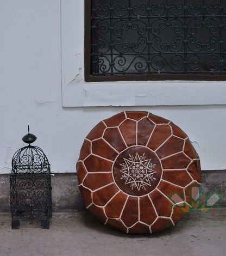
{"type": "Polygon", "coordinates": [[[10,173],[12,156],[25,145],[27,125],[37,136],[34,145],[47,155],[51,171],[73,173],[83,140],[93,127],[130,110],[172,120],[190,137],[203,170],[225,169],[226,105],[185,106],[186,99],[211,104],[217,98],[215,104],[222,103],[226,97],[217,97],[219,84],[203,84],[200,94],[192,82],[185,82],[176,93],[172,81],[84,82],[84,2],[61,3],[71,4],[75,15],[64,4],[60,10],[59,0],[1,3],[0,174],[10,173]],[[60,13],[67,14],[68,22],[60,23],[60,13]],[[61,46],[70,51],[61,54],[61,46]]]}

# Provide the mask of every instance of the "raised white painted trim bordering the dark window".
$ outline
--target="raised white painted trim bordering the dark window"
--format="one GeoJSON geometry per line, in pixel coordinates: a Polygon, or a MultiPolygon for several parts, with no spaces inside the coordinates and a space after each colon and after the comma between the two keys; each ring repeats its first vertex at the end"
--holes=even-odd
{"type": "Polygon", "coordinates": [[[223,105],[226,82],[84,82],[84,1],[61,0],[62,106],[223,105]]]}

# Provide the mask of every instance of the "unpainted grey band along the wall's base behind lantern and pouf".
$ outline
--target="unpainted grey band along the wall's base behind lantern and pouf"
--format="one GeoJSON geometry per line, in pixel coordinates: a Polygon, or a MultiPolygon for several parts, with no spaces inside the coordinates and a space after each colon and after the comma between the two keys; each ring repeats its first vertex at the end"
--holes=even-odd
{"type": "MultiPolygon", "coordinates": [[[[220,193],[223,199],[218,205],[226,206],[226,170],[202,172],[202,193],[220,193]]],[[[60,173],[51,176],[53,210],[86,211],[78,189],[76,173],[60,173]]],[[[9,175],[0,174],[0,212],[10,210],[9,175]]]]}

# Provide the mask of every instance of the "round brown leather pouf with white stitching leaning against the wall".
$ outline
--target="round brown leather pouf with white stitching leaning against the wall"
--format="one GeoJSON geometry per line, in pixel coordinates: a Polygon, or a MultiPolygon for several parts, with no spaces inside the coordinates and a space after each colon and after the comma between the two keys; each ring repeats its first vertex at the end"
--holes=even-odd
{"type": "Polygon", "coordinates": [[[87,209],[125,233],[154,233],[175,225],[200,185],[199,157],[187,135],[149,112],[125,111],[87,135],[77,162],[87,209]],[[179,195],[179,196],[178,196],[179,195]]]}

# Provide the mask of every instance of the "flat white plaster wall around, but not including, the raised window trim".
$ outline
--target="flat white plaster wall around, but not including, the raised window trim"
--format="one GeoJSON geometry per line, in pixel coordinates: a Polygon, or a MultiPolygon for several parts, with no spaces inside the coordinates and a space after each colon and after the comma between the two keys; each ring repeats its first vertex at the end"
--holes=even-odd
{"type": "MultiPolygon", "coordinates": [[[[83,26],[78,35],[83,35],[83,26]]],[[[0,174],[10,172],[28,124],[52,172],[75,172],[87,133],[124,110],[147,110],[171,119],[190,136],[203,169],[226,169],[225,105],[62,107],[60,0],[0,0],[0,36],[0,174]]]]}

